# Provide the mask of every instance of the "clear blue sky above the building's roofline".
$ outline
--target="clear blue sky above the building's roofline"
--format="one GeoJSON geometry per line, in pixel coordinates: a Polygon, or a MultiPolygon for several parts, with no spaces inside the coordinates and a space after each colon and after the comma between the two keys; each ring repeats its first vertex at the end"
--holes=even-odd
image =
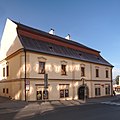
{"type": "Polygon", "coordinates": [[[120,0],[0,0],[0,40],[6,19],[98,50],[120,75],[120,0]]]}

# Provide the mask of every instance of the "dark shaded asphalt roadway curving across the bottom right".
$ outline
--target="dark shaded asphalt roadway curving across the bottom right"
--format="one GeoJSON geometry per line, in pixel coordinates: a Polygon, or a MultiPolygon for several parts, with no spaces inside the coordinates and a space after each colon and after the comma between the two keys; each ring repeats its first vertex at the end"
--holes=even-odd
{"type": "Polygon", "coordinates": [[[30,120],[119,120],[120,106],[88,104],[54,110],[36,115],[30,120]]]}

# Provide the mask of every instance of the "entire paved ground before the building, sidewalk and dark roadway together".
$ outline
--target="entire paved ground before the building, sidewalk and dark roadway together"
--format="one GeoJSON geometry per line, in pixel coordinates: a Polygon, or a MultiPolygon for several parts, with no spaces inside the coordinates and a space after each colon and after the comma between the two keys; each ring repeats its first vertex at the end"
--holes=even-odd
{"type": "Polygon", "coordinates": [[[0,97],[0,120],[117,120],[119,103],[119,96],[89,99],[87,103],[75,100],[24,102],[0,97]]]}

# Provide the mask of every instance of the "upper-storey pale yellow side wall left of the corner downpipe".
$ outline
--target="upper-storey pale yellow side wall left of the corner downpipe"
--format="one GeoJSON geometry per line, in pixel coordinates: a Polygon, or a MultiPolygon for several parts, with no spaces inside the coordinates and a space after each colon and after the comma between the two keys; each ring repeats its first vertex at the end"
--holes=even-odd
{"type": "MultiPolygon", "coordinates": [[[[19,79],[19,78],[24,78],[25,77],[25,56],[24,52],[21,52],[20,54],[10,58],[9,60],[4,60],[0,63],[0,80],[2,79],[7,79],[7,80],[14,80],[14,79],[19,79]],[[3,68],[6,66],[9,66],[9,76],[8,77],[3,77],[3,68]]],[[[5,70],[6,74],[6,70],[5,70]]]]}

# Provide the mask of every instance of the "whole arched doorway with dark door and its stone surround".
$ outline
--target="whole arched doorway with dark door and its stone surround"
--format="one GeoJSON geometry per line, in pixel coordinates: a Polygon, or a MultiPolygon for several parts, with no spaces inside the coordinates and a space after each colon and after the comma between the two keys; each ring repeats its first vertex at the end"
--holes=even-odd
{"type": "Polygon", "coordinates": [[[86,85],[82,85],[78,88],[78,99],[85,100],[85,97],[89,97],[89,90],[86,85]]]}

